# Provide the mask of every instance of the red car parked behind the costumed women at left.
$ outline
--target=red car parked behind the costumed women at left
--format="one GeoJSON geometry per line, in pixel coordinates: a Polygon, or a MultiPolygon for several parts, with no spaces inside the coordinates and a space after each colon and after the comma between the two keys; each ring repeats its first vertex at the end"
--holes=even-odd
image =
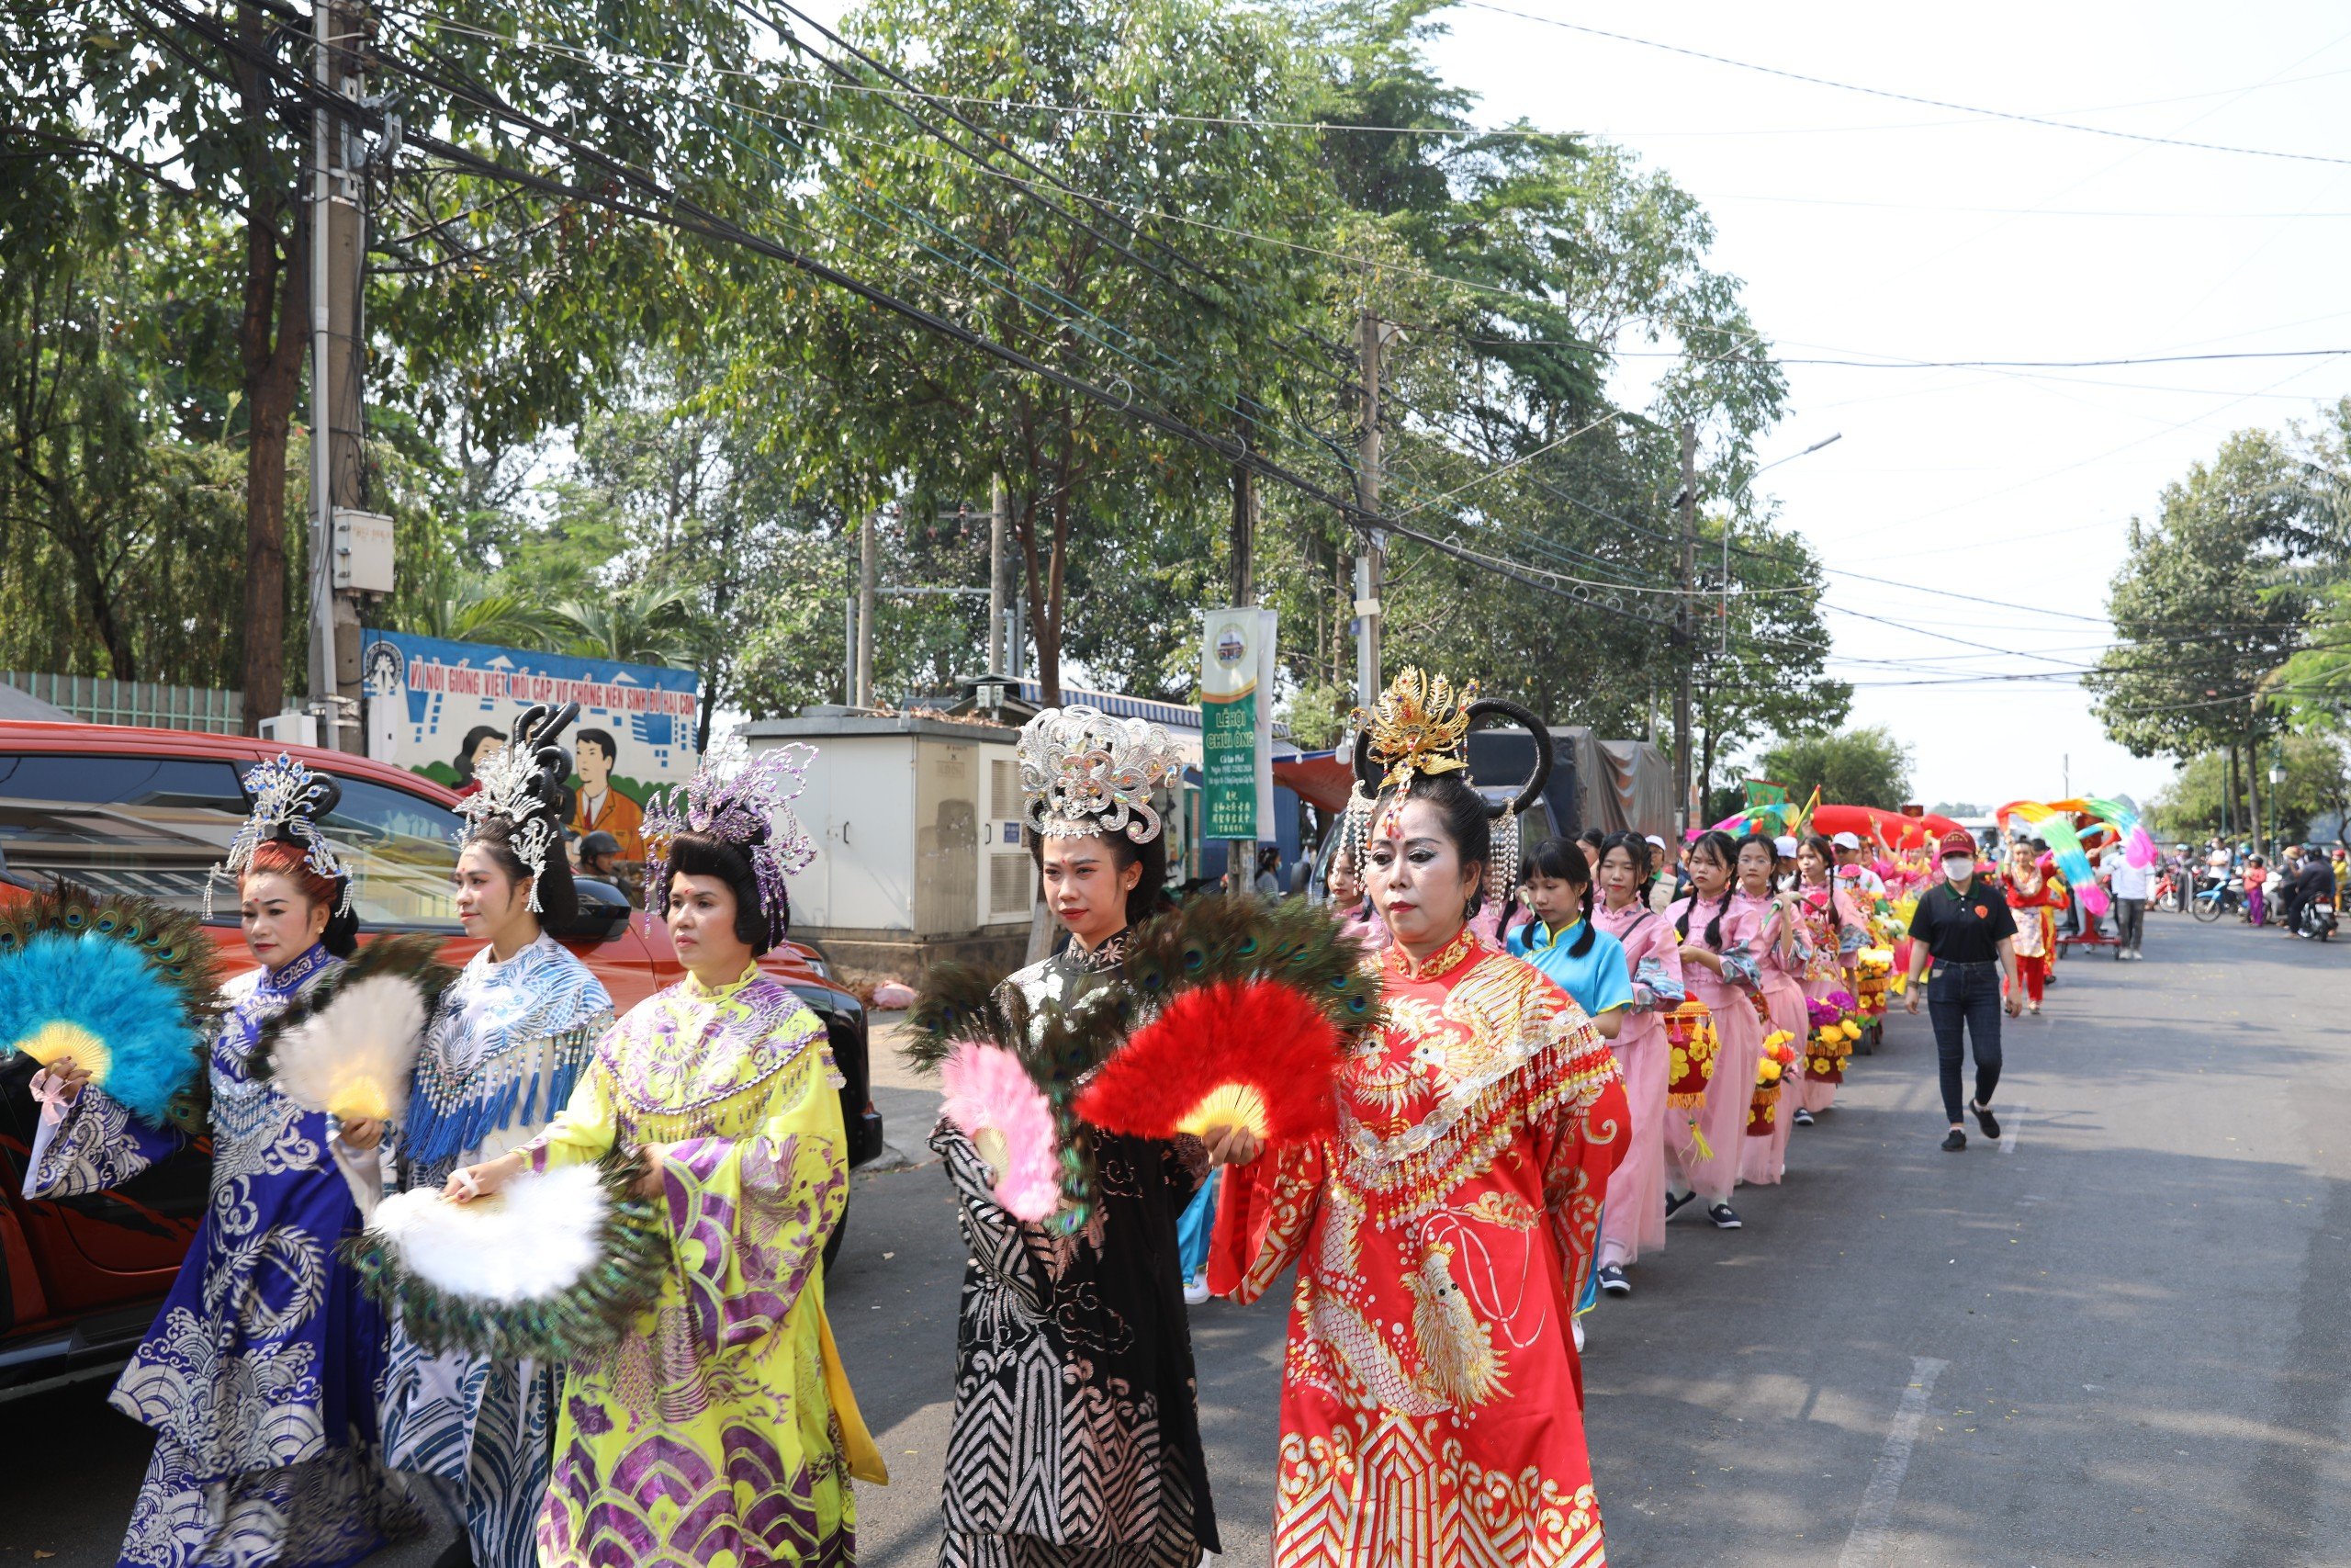
{"type": "MultiPolygon", "coordinates": [[[[205,877],[247,813],[240,776],[280,750],[343,785],[329,827],[353,867],[360,940],[447,931],[447,959],[473,957],[480,943],[458,929],[449,889],[463,820],[451,811],[456,795],[383,762],[245,736],[0,722],[0,903],[68,877],[200,910],[205,877]]],[[[235,891],[216,889],[216,910],[207,924],[221,957],[230,971],[252,969],[235,891]]],[[[668,931],[647,931],[602,882],[581,882],[581,922],[555,936],[623,1013],[684,973],[668,931]]],[[[868,1095],[863,1004],[832,983],[816,947],[792,943],[759,964],[825,1023],[849,1079],[849,1159],[872,1159],[882,1117],[868,1095]]],[[[31,1077],[28,1058],[0,1060],[0,1394],[118,1363],[136,1347],[205,1215],[212,1168],[212,1145],[197,1140],[113,1192],[28,1201],[31,1077]]]]}

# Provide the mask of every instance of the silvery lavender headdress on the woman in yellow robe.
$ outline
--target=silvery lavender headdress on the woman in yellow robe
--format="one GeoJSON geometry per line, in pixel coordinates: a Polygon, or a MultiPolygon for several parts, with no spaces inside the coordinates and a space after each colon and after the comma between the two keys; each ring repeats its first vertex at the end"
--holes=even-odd
{"type": "Polygon", "coordinates": [[[785,877],[816,860],[816,842],[792,811],[792,802],[809,788],[811,762],[816,748],[806,741],[752,757],[743,736],[729,733],[710,743],[694,778],[656,792],[644,806],[642,830],[647,922],[670,907],[670,844],[682,832],[696,832],[743,851],[759,882],[766,929],[783,936],[792,907],[785,877]]]}

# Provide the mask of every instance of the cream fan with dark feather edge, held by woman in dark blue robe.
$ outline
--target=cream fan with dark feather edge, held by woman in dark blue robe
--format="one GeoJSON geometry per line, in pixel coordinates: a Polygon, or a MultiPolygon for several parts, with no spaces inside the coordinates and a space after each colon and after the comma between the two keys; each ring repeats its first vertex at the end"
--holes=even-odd
{"type": "Polygon", "coordinates": [[[440,938],[376,938],[263,1025],[254,1077],[303,1110],[400,1121],[433,1009],[454,983],[440,938]]]}

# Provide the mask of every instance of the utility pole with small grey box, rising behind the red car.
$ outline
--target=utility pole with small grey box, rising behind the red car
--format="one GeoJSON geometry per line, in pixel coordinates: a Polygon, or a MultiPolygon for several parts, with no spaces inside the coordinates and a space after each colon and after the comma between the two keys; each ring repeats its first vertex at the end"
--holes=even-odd
{"type": "MultiPolygon", "coordinates": [[[[310,7],[310,71],[322,92],[364,96],[367,14],[310,7]]],[[[390,520],[360,510],[367,418],[360,402],[360,162],[355,132],[310,113],[310,712],[317,743],[364,750],[360,726],[360,595],[390,592],[390,520]],[[364,559],[362,559],[364,557],[364,559]],[[376,576],[381,571],[381,576],[376,576]]]]}

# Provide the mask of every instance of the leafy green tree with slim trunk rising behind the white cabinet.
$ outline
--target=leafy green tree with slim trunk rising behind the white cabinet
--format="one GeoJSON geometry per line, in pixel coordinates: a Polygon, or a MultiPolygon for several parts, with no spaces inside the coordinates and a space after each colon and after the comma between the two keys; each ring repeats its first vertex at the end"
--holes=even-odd
{"type": "MultiPolygon", "coordinates": [[[[1190,268],[1166,244],[1199,249],[1199,223],[1286,228],[1312,202],[1307,141],[1147,118],[1281,118],[1286,49],[1267,16],[1206,0],[877,0],[844,26],[877,54],[919,56],[926,87],[1004,106],[978,141],[936,110],[910,120],[889,92],[828,108],[832,162],[809,221],[860,273],[1218,435],[1274,428],[1253,409],[1274,381],[1277,329],[1302,308],[1305,268],[1251,244],[1190,268]]],[[[1204,552],[1204,508],[1227,480],[1211,454],[837,292],[785,284],[776,303],[743,386],[771,404],[778,454],[813,491],[863,512],[900,475],[962,496],[1004,475],[1049,696],[1077,557],[1098,550],[1105,522],[1199,529],[1204,552]]]]}

